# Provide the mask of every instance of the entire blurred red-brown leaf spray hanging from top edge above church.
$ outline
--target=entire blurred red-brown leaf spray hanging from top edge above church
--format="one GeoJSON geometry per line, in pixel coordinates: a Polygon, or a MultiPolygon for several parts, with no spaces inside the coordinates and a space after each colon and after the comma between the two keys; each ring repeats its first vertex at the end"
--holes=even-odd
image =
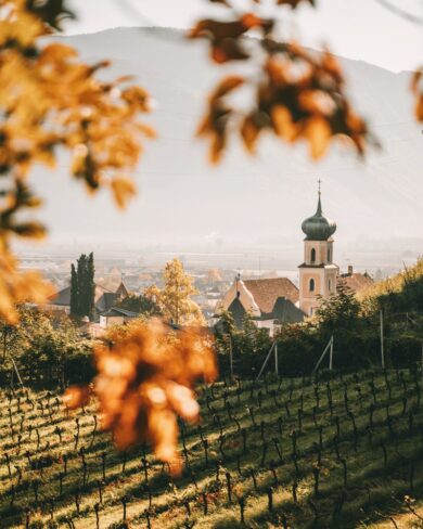
{"type": "MultiPolygon", "coordinates": [[[[299,3],[313,4],[278,2],[294,9],[299,3]]],[[[231,16],[231,22],[200,21],[190,34],[209,42],[214,62],[249,62],[256,70],[254,75],[225,77],[209,98],[197,133],[208,139],[213,163],[221,158],[232,130],[251,153],[260,134],[269,131],[287,143],[306,141],[313,159],[322,157],[334,139],[360,155],[369,142],[375,143],[364,119],[352,108],[342,68],[329,51],[316,53],[297,42],[279,42],[275,18],[235,10],[231,16]],[[242,90],[244,95],[253,94],[247,109],[233,102],[242,90]]]]}

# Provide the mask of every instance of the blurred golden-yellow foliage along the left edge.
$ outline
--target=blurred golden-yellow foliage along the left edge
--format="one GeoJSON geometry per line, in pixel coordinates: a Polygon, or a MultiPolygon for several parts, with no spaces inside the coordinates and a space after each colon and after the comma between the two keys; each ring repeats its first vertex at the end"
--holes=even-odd
{"type": "Polygon", "coordinates": [[[70,152],[72,173],[94,192],[110,188],[123,207],[136,188],[141,137],[154,131],[138,116],[149,95],[130,78],[104,82],[106,61],[86,64],[75,49],[41,44],[72,13],[62,1],[5,0],[0,11],[0,315],[16,321],[14,306],[51,291],[35,274],[22,274],[10,251],[13,237],[39,238],[44,227],[22,214],[41,205],[28,181],[35,165],[55,167],[59,149],[70,152]],[[26,288],[23,287],[26,285],[26,288]]]}

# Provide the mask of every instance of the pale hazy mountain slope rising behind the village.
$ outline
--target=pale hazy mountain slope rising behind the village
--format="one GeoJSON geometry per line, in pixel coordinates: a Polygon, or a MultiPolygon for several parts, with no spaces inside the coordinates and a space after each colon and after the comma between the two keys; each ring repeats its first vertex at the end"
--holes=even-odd
{"type": "Polygon", "coordinates": [[[316,207],[318,176],[324,211],[338,223],[338,248],[356,241],[355,249],[338,254],[339,259],[358,256],[366,244],[376,251],[369,241],[421,237],[423,149],[409,74],[342,60],[349,92],[383,144],[366,163],[335,147],[313,165],[303,146],[292,150],[269,138],[257,157],[233,145],[225,163],[211,168],[193,132],[223,69],[211,66],[201,42],[182,37],[175,29],[120,28],[61,38],[89,61],[111,59],[107,75],[134,75],[149,89],[157,102],[149,120],[159,139],[146,145],[137,175],[141,193],[126,215],[115,211],[106,196],[80,201],[79,185],[65,178],[64,158],[59,173],[38,171],[38,185],[48,197],[43,217],[56,240],[206,245],[219,238],[223,244],[283,247],[296,257],[302,253],[300,222],[316,207]],[[77,201],[75,215],[69,205],[77,201]]]}

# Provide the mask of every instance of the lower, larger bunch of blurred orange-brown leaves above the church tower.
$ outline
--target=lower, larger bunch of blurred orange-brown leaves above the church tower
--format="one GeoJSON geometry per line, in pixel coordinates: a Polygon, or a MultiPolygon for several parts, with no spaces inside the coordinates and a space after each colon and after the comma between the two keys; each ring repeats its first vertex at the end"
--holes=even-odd
{"type": "Polygon", "coordinates": [[[344,79],[329,52],[312,54],[296,43],[264,41],[268,59],[259,81],[230,76],[215,89],[198,136],[210,141],[210,160],[220,160],[230,130],[236,130],[249,153],[264,131],[287,143],[306,141],[310,156],[319,159],[336,138],[348,139],[362,155],[371,139],[366,121],[350,107],[344,79]],[[255,100],[248,112],[235,111],[227,95],[249,85],[255,100]]]}

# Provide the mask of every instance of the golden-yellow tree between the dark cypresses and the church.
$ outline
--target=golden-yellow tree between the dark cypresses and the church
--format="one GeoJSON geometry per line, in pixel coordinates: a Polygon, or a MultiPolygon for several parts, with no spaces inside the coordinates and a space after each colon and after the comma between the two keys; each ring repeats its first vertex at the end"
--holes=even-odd
{"type": "Polygon", "coordinates": [[[200,307],[191,299],[198,294],[192,278],[183,270],[179,259],[169,261],[163,274],[164,287],[153,285],[145,291],[162,314],[177,325],[203,325],[204,318],[200,307]]]}

